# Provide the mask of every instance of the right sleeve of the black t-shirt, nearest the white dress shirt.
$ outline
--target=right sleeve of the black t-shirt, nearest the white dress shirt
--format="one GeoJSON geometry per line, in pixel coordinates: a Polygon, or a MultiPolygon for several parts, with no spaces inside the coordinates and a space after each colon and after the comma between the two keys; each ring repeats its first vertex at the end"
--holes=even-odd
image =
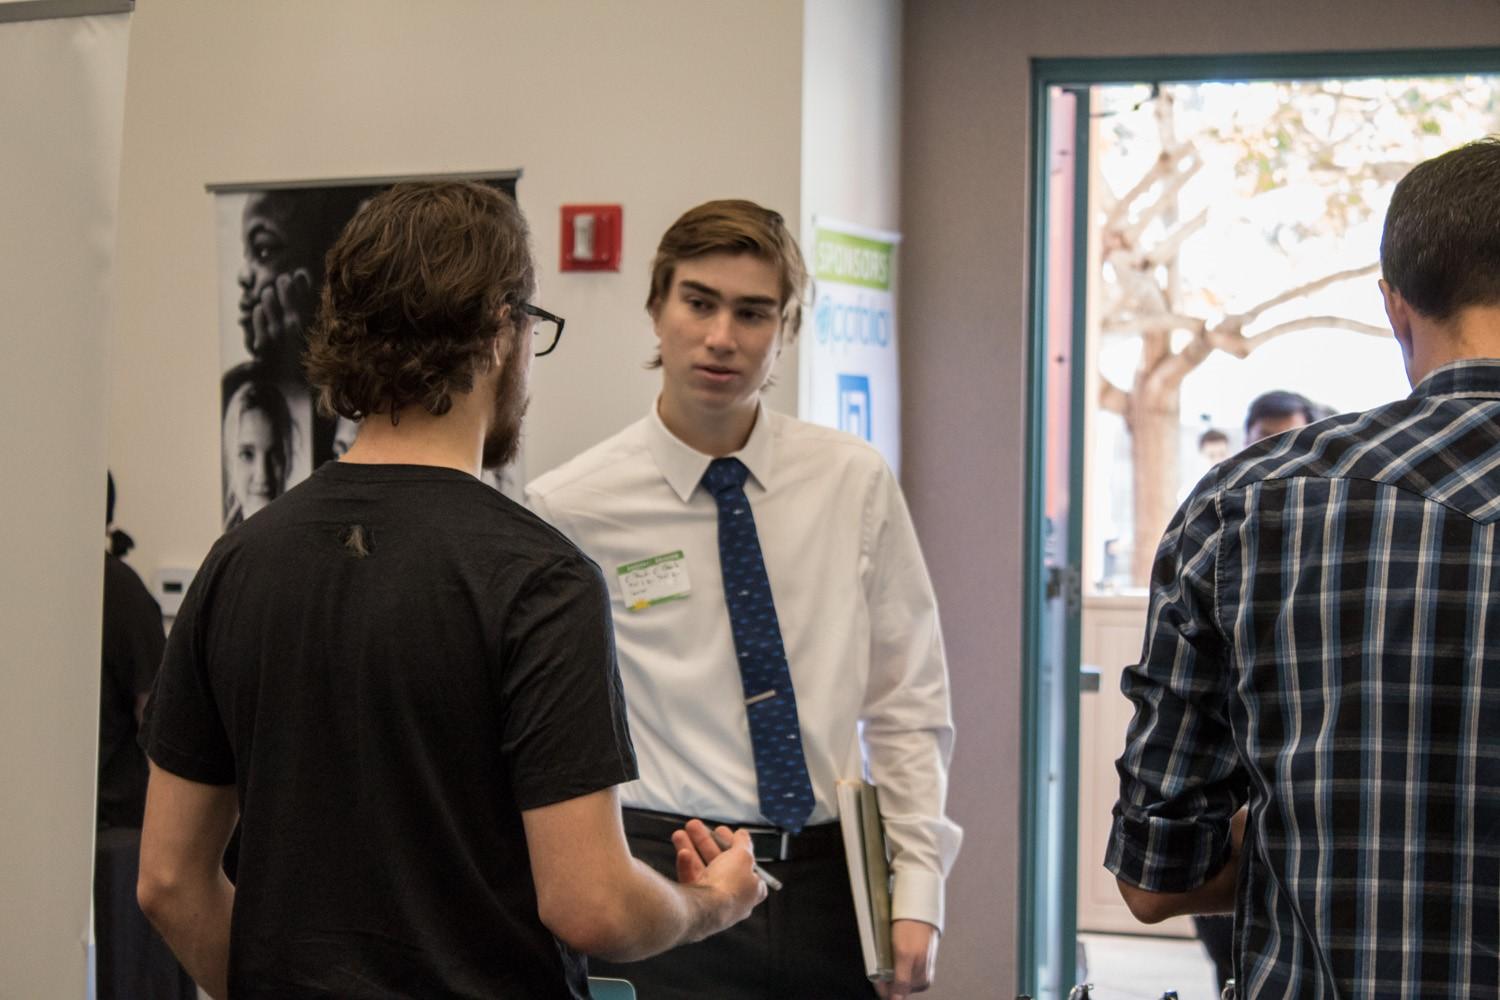
{"type": "Polygon", "coordinates": [[[501,739],[522,810],[638,777],[609,592],[582,555],[531,574],[502,633],[501,739]]]}

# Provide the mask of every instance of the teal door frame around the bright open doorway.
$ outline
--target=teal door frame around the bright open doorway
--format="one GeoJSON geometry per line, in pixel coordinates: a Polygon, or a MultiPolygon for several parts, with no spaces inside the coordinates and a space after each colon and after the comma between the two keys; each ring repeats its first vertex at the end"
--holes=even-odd
{"type": "MultiPolygon", "coordinates": [[[[1234,54],[1180,57],[1036,58],[1032,60],[1030,91],[1030,273],[1026,400],[1026,570],[1023,577],[1023,675],[1022,675],[1022,829],[1017,913],[1017,991],[1036,996],[1040,969],[1048,949],[1054,958],[1070,955],[1077,940],[1077,790],[1078,790],[1078,616],[1071,615],[1062,643],[1062,664],[1047,649],[1046,484],[1047,484],[1047,219],[1048,150],[1052,123],[1048,94],[1053,88],[1078,91],[1074,147],[1078,169],[1074,184],[1072,255],[1072,378],[1070,406],[1068,559],[1078,571],[1083,543],[1083,379],[1086,364],[1088,294],[1088,94],[1095,84],[1197,82],[1242,79],[1340,79],[1362,76],[1449,76],[1500,73],[1500,48],[1389,49],[1360,52],[1234,54]],[[1060,667],[1060,669],[1059,669],[1060,667]],[[1060,682],[1052,691],[1053,681],[1060,682]],[[1052,732],[1048,694],[1064,699],[1059,720],[1065,732],[1052,732]],[[1060,753],[1054,748],[1062,747],[1060,753]],[[1064,810],[1058,829],[1048,831],[1042,816],[1048,775],[1062,781],[1064,810]],[[1056,843],[1040,843],[1046,837],[1056,843]],[[1060,852],[1060,876],[1046,877],[1048,858],[1060,852]],[[1038,915],[1054,913],[1054,933],[1038,933],[1038,915]],[[1047,937],[1054,940],[1047,942],[1047,937]]],[[[1080,574],[1082,580],[1082,574],[1080,574]]],[[[1124,733],[1120,735],[1124,741],[1124,733]]],[[[1046,921],[1044,921],[1046,922],[1046,921]]],[[[1066,990],[1068,984],[1064,984],[1066,990]]]]}

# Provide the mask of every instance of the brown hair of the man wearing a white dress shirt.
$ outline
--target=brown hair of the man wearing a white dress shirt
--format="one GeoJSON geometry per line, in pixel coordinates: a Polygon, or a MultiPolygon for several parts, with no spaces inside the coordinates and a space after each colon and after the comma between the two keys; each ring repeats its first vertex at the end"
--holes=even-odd
{"type": "Polygon", "coordinates": [[[788,340],[796,337],[802,327],[802,292],[807,288],[802,252],[778,211],[742,198],[706,201],[688,208],[662,234],[651,261],[646,312],[654,315],[672,291],[678,261],[708,253],[750,253],[774,267],[782,283],[782,321],[788,340]]]}

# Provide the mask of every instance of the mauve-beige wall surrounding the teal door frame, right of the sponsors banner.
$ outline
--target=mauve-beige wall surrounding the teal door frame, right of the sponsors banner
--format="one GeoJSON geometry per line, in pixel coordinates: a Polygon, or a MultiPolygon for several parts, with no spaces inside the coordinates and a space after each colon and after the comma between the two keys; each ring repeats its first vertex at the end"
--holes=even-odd
{"type": "Polygon", "coordinates": [[[1016,981],[1029,60],[1500,45],[1492,0],[921,0],[904,7],[903,483],[938,588],[957,712],[939,985],[1016,981]]]}

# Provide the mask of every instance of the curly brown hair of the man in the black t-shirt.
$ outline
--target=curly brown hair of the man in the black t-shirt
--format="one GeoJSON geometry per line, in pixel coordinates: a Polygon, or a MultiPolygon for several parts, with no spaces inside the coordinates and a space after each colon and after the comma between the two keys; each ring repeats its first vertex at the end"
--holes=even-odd
{"type": "Polygon", "coordinates": [[[394,418],[412,403],[448,412],[495,339],[525,330],[519,309],[536,292],[520,208],[477,181],[381,192],[345,226],[326,271],[304,367],[320,409],[350,420],[394,418]]]}

